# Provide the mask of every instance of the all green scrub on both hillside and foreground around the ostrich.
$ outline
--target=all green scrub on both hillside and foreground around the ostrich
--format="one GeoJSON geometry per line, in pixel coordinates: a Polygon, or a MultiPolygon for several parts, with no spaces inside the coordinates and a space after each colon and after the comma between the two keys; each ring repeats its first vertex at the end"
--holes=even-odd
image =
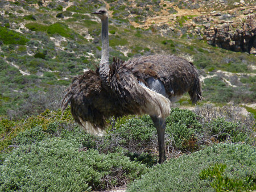
{"type": "MultiPolygon", "coordinates": [[[[193,111],[172,108],[163,165],[156,165],[158,140],[147,115],[109,119],[105,136],[89,135],[69,109],[61,115],[59,104],[75,75],[98,66],[101,24],[88,13],[104,3],[1,1],[0,190],[90,191],[127,184],[128,191],[256,190],[256,111],[250,105],[256,102],[255,56],[208,45],[187,27],[196,15],[179,15],[180,9],[233,9],[240,1],[105,2],[110,58],[183,57],[199,69],[205,100],[193,111]],[[144,25],[163,11],[177,14],[176,20],[144,25]]],[[[204,28],[197,24],[194,31],[204,28]]],[[[195,107],[188,94],[175,105],[195,107]]]]}

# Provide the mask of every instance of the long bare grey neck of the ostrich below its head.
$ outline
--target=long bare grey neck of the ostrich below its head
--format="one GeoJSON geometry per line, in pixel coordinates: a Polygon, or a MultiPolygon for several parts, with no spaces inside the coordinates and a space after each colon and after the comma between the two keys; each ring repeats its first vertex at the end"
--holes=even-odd
{"type": "Polygon", "coordinates": [[[100,62],[100,77],[101,80],[108,85],[109,76],[109,30],[108,18],[101,20],[101,62],[100,62]]]}

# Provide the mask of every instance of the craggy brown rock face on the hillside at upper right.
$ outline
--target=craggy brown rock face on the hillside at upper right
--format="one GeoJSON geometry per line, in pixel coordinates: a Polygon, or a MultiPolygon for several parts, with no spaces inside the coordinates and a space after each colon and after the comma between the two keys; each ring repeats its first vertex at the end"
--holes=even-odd
{"type": "MultiPolygon", "coordinates": [[[[197,20],[206,22],[209,18],[197,20]]],[[[222,20],[219,23],[221,24],[204,24],[204,39],[208,44],[231,51],[256,54],[256,14],[246,15],[240,22],[222,20]]]]}

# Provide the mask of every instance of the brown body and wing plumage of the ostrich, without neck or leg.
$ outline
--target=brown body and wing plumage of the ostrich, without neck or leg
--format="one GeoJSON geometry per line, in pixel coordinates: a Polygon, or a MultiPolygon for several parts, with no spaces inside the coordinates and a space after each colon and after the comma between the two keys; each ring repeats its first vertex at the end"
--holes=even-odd
{"type": "Polygon", "coordinates": [[[170,107],[164,105],[169,105],[169,101],[139,84],[141,81],[147,85],[150,77],[163,82],[169,99],[187,91],[193,103],[201,99],[199,74],[193,64],[180,57],[154,55],[126,62],[114,58],[110,64],[109,86],[102,84],[98,69],[87,70],[73,78],[61,108],[65,110],[70,103],[77,123],[84,126],[84,122],[90,122],[98,130],[104,130],[106,119],[111,116],[157,114],[164,117],[170,107]]]}

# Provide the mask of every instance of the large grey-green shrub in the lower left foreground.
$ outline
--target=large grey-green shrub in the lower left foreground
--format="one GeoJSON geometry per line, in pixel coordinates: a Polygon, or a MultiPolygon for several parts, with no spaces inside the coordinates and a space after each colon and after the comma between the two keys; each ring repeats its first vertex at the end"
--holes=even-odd
{"type": "Polygon", "coordinates": [[[102,190],[147,172],[145,165],[131,162],[121,153],[100,155],[79,148],[76,139],[53,137],[1,155],[0,190],[102,190]]]}

